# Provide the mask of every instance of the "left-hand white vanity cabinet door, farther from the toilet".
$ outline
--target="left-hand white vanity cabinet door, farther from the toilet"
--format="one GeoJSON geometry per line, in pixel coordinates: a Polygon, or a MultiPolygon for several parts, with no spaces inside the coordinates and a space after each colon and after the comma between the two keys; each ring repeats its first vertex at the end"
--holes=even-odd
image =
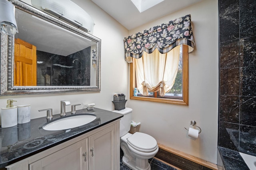
{"type": "Polygon", "coordinates": [[[29,165],[30,170],[88,170],[88,138],[29,165]],[[86,154],[85,154],[86,153],[86,154]]]}

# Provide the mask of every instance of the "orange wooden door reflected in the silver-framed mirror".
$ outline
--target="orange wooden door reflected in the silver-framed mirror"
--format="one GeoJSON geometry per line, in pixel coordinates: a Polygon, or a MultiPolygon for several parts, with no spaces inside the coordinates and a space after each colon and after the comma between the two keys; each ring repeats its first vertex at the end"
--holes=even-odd
{"type": "Polygon", "coordinates": [[[14,86],[36,86],[36,46],[15,39],[14,63],[14,86]]]}

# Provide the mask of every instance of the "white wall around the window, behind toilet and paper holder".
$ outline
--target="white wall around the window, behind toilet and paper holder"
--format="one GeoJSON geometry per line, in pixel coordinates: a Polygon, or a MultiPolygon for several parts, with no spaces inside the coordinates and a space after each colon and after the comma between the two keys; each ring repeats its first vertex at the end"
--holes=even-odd
{"type": "Polygon", "coordinates": [[[130,30],[129,35],[191,14],[196,47],[189,53],[189,106],[130,100],[133,120],[140,131],[158,143],[216,163],[218,138],[218,0],[204,0],[130,30]],[[188,137],[190,121],[202,133],[197,140],[188,137]]]}

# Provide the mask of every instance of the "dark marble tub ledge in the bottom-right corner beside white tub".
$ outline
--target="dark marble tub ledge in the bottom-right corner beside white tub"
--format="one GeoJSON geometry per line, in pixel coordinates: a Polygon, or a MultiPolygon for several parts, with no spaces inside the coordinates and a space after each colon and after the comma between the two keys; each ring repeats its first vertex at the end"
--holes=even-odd
{"type": "Polygon", "coordinates": [[[236,150],[218,147],[225,170],[250,170],[236,150]]]}

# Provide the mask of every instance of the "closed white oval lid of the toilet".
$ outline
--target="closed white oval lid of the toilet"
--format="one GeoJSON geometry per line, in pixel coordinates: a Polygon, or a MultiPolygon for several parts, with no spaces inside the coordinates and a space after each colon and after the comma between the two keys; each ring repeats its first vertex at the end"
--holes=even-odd
{"type": "Polygon", "coordinates": [[[154,149],[157,146],[156,139],[146,133],[136,132],[127,138],[127,141],[134,147],[140,149],[154,149]]]}

